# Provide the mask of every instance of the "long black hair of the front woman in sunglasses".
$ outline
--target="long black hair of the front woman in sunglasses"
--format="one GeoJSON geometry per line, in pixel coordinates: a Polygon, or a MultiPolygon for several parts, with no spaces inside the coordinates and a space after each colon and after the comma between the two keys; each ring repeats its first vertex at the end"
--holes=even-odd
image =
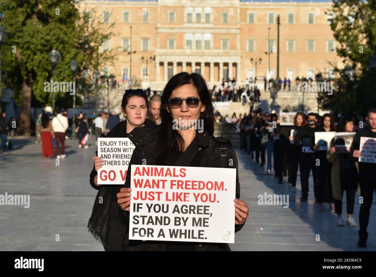
{"type": "Polygon", "coordinates": [[[166,84],[161,99],[161,134],[156,149],[157,164],[174,164],[177,161],[177,155],[174,153],[184,147],[184,139],[177,130],[172,128],[173,118],[166,105],[173,90],[186,84],[191,84],[197,89],[201,103],[205,106],[199,118],[203,120],[203,131],[208,132],[209,135],[214,133],[214,109],[205,79],[199,73],[181,72],[174,75],[166,84]]]}

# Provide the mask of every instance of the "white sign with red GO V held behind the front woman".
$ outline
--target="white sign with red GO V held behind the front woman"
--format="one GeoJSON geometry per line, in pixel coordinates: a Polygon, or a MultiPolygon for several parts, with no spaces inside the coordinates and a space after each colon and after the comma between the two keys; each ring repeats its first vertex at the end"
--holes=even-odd
{"type": "Polygon", "coordinates": [[[129,138],[98,138],[98,157],[105,160],[98,169],[98,184],[124,184],[134,149],[129,138]]]}

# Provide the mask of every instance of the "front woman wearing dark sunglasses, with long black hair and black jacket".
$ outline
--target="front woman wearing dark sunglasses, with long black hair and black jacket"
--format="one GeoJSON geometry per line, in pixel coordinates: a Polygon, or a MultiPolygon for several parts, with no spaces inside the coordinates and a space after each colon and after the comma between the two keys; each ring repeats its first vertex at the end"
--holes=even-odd
{"type": "MultiPolygon", "coordinates": [[[[248,216],[248,207],[240,198],[238,161],[235,152],[224,138],[214,138],[214,112],[208,86],[198,73],[186,72],[173,76],[165,86],[162,95],[161,124],[135,128],[130,139],[136,148],[130,159],[132,164],[170,165],[190,167],[236,168],[236,199],[234,199],[235,232],[239,231],[248,216]],[[203,125],[200,133],[194,124],[198,120],[203,125]],[[174,128],[175,123],[178,128],[174,128]],[[191,128],[183,128],[191,125],[191,128]],[[226,148],[226,157],[220,155],[219,148],[226,148]],[[229,159],[233,165],[229,166],[229,159]]],[[[127,171],[125,187],[117,194],[121,220],[129,226],[130,210],[130,170],[127,171]]],[[[215,251],[230,248],[227,243],[166,242],[129,240],[127,230],[124,240],[125,251],[215,251]]]]}

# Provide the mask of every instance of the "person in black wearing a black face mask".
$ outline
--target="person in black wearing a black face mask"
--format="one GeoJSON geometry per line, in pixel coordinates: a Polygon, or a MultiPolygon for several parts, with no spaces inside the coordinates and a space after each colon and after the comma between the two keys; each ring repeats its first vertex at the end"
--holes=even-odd
{"type": "Polygon", "coordinates": [[[308,200],[308,179],[309,173],[312,169],[314,183],[316,180],[316,166],[315,166],[315,132],[317,132],[316,122],[317,116],[315,113],[308,114],[308,124],[301,127],[294,138],[294,144],[299,148],[299,164],[300,164],[300,183],[302,184],[301,202],[308,200]]]}

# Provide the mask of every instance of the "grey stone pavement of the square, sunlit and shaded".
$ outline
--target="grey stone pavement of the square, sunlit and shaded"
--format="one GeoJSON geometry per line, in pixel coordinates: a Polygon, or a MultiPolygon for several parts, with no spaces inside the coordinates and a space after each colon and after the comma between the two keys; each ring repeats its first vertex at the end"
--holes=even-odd
{"type": "MultiPolygon", "coordinates": [[[[94,136],[89,148],[78,148],[77,140],[66,141],[67,158],[43,159],[41,144],[32,138],[12,138],[14,150],[0,154],[0,194],[30,194],[30,208],[0,206],[0,250],[19,251],[103,251],[87,230],[97,191],[89,185],[94,136]],[[56,241],[56,235],[59,241],[56,241]]],[[[235,236],[233,251],[358,251],[376,250],[376,210],[371,209],[368,247],[356,247],[358,227],[337,227],[336,215],[316,211],[312,178],[308,203],[300,203],[291,185],[277,184],[250,156],[237,150],[241,199],[250,208],[243,229],[235,236]],[[289,207],[258,205],[258,195],[288,194],[289,207]],[[320,241],[317,241],[317,234],[320,241]]],[[[373,206],[375,205],[375,198],[373,206]]],[[[354,218],[359,223],[356,195],[354,218]]],[[[343,200],[346,212],[346,199],[343,200]]],[[[346,218],[346,214],[343,213],[346,218]]]]}

